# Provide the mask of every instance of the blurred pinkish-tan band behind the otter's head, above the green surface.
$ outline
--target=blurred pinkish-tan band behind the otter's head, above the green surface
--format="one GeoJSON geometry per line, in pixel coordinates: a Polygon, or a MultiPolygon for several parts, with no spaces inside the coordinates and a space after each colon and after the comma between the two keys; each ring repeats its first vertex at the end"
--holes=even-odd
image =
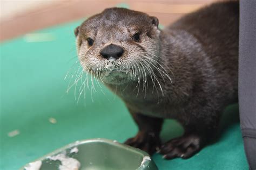
{"type": "Polygon", "coordinates": [[[33,30],[88,17],[112,6],[149,13],[167,25],[218,0],[1,0],[1,41],[33,30]]]}

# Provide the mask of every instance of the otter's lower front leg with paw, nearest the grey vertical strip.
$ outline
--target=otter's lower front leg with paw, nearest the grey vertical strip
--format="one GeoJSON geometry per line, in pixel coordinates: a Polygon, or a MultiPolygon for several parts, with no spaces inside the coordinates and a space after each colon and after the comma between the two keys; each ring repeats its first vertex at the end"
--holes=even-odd
{"type": "Polygon", "coordinates": [[[199,152],[217,131],[215,125],[209,128],[208,125],[203,125],[200,122],[197,125],[185,125],[184,127],[183,136],[171,139],[161,146],[159,153],[164,155],[163,158],[190,158],[199,152]]]}

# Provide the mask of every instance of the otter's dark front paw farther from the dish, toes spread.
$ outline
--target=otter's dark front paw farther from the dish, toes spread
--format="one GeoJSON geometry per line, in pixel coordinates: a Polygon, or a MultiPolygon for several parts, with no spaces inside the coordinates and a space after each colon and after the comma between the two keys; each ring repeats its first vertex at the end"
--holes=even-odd
{"type": "Polygon", "coordinates": [[[187,134],[179,138],[174,138],[163,144],[159,150],[165,159],[192,157],[200,151],[203,145],[203,138],[196,134],[187,134]]]}

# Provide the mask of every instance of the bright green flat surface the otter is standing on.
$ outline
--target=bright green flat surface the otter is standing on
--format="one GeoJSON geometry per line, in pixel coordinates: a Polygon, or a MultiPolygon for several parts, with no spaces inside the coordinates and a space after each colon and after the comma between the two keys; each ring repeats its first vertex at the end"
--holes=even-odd
{"type": "MultiPolygon", "coordinates": [[[[37,31],[48,33],[43,42],[20,37],[1,44],[0,169],[17,169],[76,140],[108,138],[123,142],[136,134],[137,126],[124,103],[105,87],[100,90],[96,86],[97,92],[92,95],[87,90],[79,102],[75,100],[75,87],[65,93],[69,81],[75,80],[64,80],[66,73],[72,75],[79,66],[72,67],[77,61],[73,30],[79,24],[37,31]],[[50,117],[57,123],[50,123],[50,117]],[[13,130],[20,134],[9,137],[13,130]]],[[[167,161],[154,155],[159,169],[248,169],[237,105],[225,111],[223,123],[217,143],[191,159],[167,161]]],[[[161,136],[166,140],[181,133],[176,122],[167,121],[161,136]]]]}

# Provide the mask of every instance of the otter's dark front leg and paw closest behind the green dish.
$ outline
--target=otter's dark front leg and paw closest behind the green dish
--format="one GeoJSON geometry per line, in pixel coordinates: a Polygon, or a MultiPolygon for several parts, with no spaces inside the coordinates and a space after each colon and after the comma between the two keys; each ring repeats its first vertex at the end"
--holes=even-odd
{"type": "Polygon", "coordinates": [[[135,137],[127,139],[125,144],[153,154],[156,152],[156,148],[159,148],[161,144],[159,133],[163,119],[137,114],[131,110],[130,114],[137,123],[139,131],[135,137]]]}

